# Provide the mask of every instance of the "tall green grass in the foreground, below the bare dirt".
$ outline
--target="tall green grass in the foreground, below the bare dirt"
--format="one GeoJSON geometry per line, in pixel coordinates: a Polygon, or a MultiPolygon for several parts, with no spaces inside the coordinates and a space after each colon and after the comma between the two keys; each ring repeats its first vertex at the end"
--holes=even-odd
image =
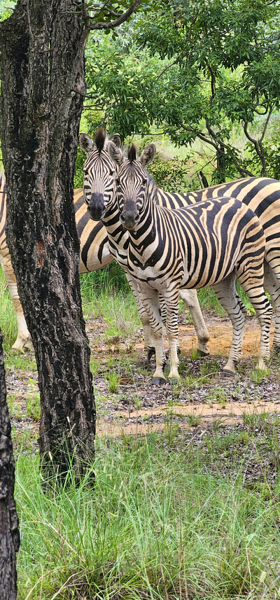
{"type": "Polygon", "coordinates": [[[37,457],[20,455],[18,600],[277,598],[279,483],[244,485],[245,438],[215,435],[211,456],[176,431],[98,440],[94,491],[69,473],[43,493],[37,457]]]}

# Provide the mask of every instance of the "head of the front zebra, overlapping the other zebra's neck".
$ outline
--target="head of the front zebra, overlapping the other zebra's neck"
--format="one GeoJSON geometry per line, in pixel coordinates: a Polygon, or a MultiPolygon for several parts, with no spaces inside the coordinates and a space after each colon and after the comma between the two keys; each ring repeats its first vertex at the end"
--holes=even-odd
{"type": "Polygon", "coordinates": [[[137,158],[137,151],[132,144],[127,158],[123,157],[120,149],[109,141],[108,153],[110,158],[120,166],[117,183],[118,209],[120,222],[127,230],[134,230],[141,218],[148,193],[148,172],[146,165],[155,158],[155,144],[148,144],[137,158]]]}

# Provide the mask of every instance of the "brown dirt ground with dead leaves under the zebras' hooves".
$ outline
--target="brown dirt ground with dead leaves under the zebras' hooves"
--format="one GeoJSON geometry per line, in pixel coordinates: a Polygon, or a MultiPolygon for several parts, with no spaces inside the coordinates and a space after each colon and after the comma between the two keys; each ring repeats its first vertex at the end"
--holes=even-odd
{"type": "MultiPolygon", "coordinates": [[[[166,428],[172,419],[180,428],[200,425],[209,427],[215,422],[234,424],[244,414],[264,412],[280,414],[280,363],[273,358],[269,370],[258,377],[254,370],[258,354],[260,328],[258,321],[247,319],[241,364],[236,377],[221,377],[221,368],[230,351],[232,329],[229,319],[211,316],[206,319],[209,328],[209,358],[191,358],[197,344],[193,326],[180,324],[181,382],[178,386],[167,383],[153,386],[150,368],[139,367],[143,344],[136,340],[132,348],[111,340],[100,340],[97,321],[87,322],[92,354],[101,367],[94,377],[94,391],[98,398],[97,435],[144,434],[166,428]],[[127,364],[124,366],[124,362],[127,364]],[[103,367],[107,365],[104,377],[103,367]],[[108,365],[109,366],[108,368],[108,365]],[[109,391],[109,372],[118,373],[117,393],[109,391]]],[[[272,327],[270,345],[274,327],[272,327]]],[[[166,340],[166,349],[168,348],[166,340]]]]}

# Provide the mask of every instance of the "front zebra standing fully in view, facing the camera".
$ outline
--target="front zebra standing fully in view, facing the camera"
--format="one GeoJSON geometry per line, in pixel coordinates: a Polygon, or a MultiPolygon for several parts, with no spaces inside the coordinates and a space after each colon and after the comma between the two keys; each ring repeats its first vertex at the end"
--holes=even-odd
{"type": "Polygon", "coordinates": [[[117,193],[113,204],[127,230],[127,267],[137,284],[155,338],[156,369],[153,383],[165,382],[159,293],[167,309],[167,337],[171,382],[179,379],[176,340],[180,288],[212,286],[232,321],[232,346],[223,368],[235,375],[241,356],[245,314],[235,293],[235,278],[250,298],[260,323],[258,368],[269,356],[272,307],[263,288],[265,235],[258,217],[246,204],[231,197],[202,200],[181,209],[167,209],[154,201],[146,165],[155,157],[155,144],[140,158],[132,144],[128,157],[113,142],[109,157],[118,165],[117,193]]]}

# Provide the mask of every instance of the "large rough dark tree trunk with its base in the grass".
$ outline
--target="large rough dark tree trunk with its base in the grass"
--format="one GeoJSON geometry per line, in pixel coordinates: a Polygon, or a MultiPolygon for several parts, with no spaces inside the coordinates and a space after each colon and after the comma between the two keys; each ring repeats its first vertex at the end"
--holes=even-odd
{"type": "Polygon", "coordinates": [[[7,241],[41,393],[43,468],[79,477],[94,456],[73,172],[85,93],[82,5],[18,0],[0,25],[7,241]]]}

